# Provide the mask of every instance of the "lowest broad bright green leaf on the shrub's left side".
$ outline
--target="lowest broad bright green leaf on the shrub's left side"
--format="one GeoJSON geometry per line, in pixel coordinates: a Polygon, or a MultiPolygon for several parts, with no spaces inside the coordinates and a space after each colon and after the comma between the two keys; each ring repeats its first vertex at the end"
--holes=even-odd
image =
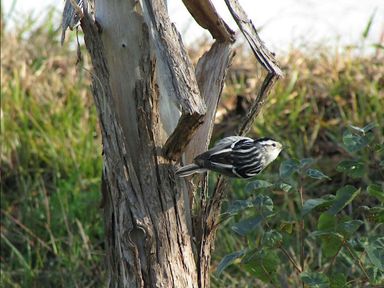
{"type": "Polygon", "coordinates": [[[253,251],[242,260],[247,271],[266,283],[271,282],[271,280],[272,282],[276,281],[277,267],[280,263],[276,252],[269,249],[253,251]]]}

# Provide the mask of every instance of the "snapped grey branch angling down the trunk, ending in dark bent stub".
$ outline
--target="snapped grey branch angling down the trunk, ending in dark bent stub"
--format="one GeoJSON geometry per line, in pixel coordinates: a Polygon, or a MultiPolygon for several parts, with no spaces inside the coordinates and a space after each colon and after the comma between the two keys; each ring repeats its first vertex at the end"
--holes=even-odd
{"type": "Polygon", "coordinates": [[[164,146],[165,155],[176,160],[184,152],[197,127],[202,124],[206,105],[200,96],[193,65],[181,36],[169,19],[164,1],[143,0],[143,6],[164,90],[182,112],[164,146]]]}

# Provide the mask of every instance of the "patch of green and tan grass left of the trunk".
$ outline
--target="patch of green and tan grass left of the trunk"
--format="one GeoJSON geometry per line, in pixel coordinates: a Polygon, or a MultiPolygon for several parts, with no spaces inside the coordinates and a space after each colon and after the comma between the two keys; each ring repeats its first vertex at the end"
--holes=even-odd
{"type": "Polygon", "coordinates": [[[104,281],[97,115],[59,32],[51,19],[2,27],[1,287],[104,281]]]}

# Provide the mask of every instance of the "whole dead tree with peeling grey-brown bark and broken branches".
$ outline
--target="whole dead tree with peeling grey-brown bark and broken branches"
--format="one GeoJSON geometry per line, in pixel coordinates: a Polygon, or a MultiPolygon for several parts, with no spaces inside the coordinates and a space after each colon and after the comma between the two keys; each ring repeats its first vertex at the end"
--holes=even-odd
{"type": "MultiPolygon", "coordinates": [[[[63,31],[80,21],[93,64],[109,287],[209,286],[224,181],[210,197],[204,185],[191,197],[174,171],[182,155],[190,162],[208,147],[234,33],[209,0],[183,2],[216,40],[196,69],[164,1],[96,0],[93,15],[86,1],[66,1],[63,31]]],[[[226,3],[268,71],[244,134],[281,72],[238,3],[226,3]]]]}

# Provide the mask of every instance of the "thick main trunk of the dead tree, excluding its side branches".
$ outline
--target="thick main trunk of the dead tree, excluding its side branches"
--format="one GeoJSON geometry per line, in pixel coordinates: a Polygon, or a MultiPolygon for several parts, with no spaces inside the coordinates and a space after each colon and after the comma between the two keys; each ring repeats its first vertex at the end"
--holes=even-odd
{"type": "Polygon", "coordinates": [[[158,149],[159,95],[148,29],[134,1],[124,1],[125,7],[106,2],[96,4],[101,35],[87,14],[81,26],[103,139],[108,286],[197,287],[185,188],[158,149]],[[129,28],[134,34],[118,31],[126,24],[137,25],[129,28]],[[123,55],[128,47],[135,59],[123,55]]]}

